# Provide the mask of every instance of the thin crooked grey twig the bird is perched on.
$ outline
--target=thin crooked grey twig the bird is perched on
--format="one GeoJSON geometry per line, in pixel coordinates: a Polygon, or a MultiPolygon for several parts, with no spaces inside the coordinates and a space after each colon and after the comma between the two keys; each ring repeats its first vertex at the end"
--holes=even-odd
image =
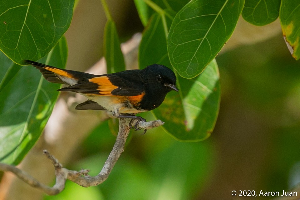
{"type": "MultiPolygon", "coordinates": [[[[44,150],[43,153],[47,156],[48,159],[51,160],[54,168],[55,168],[55,176],[56,176],[56,183],[53,187],[49,187],[37,181],[36,179],[32,178],[28,173],[22,171],[19,168],[16,168],[12,165],[7,165],[0,163],[0,170],[2,171],[10,171],[14,173],[18,178],[23,180],[25,183],[29,184],[34,188],[38,188],[42,190],[44,193],[48,195],[56,195],[61,193],[65,188],[66,180],[69,179],[82,187],[90,187],[96,186],[103,183],[111,173],[112,168],[115,166],[117,160],[119,159],[120,155],[124,151],[126,139],[130,132],[130,123],[131,119],[128,118],[120,118],[119,122],[119,132],[116,138],[116,142],[114,144],[111,153],[109,154],[106,162],[100,173],[97,176],[90,176],[88,175],[88,169],[82,169],[80,171],[69,170],[67,168],[63,168],[62,164],[56,159],[53,155],[51,155],[47,150],[44,150]]],[[[161,120],[155,120],[150,122],[143,122],[140,121],[137,124],[138,128],[143,129],[152,129],[154,127],[158,127],[164,124],[161,120]]]]}

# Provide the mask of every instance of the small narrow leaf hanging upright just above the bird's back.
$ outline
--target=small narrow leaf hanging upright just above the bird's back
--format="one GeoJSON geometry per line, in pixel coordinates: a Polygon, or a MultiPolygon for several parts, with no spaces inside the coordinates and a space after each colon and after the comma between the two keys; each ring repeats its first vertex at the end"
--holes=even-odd
{"type": "Polygon", "coordinates": [[[125,70],[124,56],[121,51],[116,25],[111,20],[106,22],[104,29],[104,57],[108,74],[125,70]]]}

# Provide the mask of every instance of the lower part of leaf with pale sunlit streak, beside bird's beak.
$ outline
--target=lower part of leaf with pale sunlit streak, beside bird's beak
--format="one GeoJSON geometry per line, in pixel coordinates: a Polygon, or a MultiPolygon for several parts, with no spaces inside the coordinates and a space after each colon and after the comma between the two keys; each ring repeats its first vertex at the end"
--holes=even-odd
{"type": "Polygon", "coordinates": [[[212,133],[219,113],[219,71],[213,60],[202,74],[185,79],[178,77],[180,93],[170,92],[154,110],[164,121],[164,129],[181,141],[204,140],[212,133]]]}

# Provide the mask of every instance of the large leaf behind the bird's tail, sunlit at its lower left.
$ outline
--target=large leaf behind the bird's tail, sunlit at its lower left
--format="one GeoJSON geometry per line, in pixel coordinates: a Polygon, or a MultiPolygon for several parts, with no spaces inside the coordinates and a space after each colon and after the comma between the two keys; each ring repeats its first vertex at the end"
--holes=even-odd
{"type": "MultiPolygon", "coordinates": [[[[63,37],[39,62],[64,67],[63,37]]],[[[49,83],[32,66],[19,66],[0,53],[0,162],[18,164],[44,129],[60,85],[49,83]]]]}

